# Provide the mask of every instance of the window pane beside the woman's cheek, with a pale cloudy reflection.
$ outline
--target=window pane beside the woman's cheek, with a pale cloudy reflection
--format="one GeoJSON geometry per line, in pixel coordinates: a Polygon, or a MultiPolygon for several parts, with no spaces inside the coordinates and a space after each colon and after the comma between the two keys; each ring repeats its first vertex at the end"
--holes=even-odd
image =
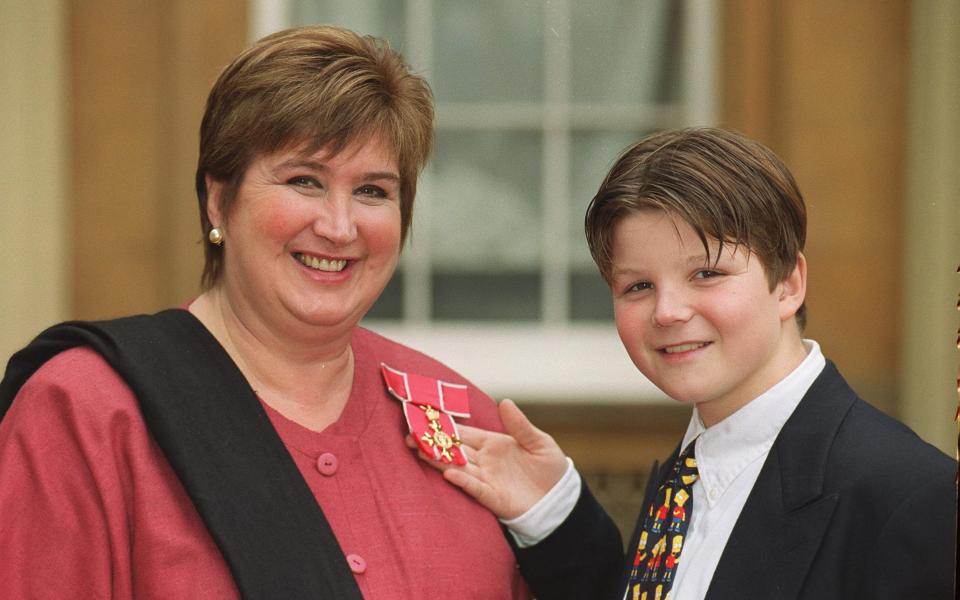
{"type": "Polygon", "coordinates": [[[540,268],[539,133],[446,131],[437,135],[430,210],[434,268],[540,268]]]}

